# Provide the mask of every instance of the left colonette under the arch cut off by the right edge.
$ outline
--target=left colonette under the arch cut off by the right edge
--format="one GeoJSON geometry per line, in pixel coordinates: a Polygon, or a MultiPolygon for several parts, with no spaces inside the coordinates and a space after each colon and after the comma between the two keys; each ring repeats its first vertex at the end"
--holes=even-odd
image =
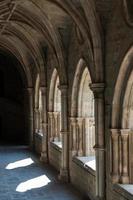
{"type": "Polygon", "coordinates": [[[111,147],[112,147],[112,182],[119,182],[119,160],[120,160],[120,152],[119,152],[119,129],[111,129],[111,147]]]}

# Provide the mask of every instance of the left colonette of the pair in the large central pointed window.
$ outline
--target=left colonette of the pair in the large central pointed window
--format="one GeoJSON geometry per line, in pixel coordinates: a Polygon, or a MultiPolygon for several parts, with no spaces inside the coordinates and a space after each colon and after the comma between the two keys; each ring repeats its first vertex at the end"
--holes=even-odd
{"type": "Polygon", "coordinates": [[[71,156],[77,156],[78,143],[77,143],[77,119],[72,117],[71,123],[71,156]]]}

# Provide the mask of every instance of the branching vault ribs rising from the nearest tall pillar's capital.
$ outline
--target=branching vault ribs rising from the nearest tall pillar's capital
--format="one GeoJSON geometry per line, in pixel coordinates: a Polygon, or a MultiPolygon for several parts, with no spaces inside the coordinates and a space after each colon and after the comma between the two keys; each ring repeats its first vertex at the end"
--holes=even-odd
{"type": "Polygon", "coordinates": [[[95,4],[93,1],[81,1],[82,7],[85,12],[87,23],[84,18],[79,14],[71,1],[51,0],[52,3],[57,4],[66,13],[68,13],[88,44],[88,54],[91,67],[95,70],[95,82],[104,82],[104,70],[102,59],[102,27],[100,25],[99,17],[96,13],[95,4]],[[93,8],[93,9],[92,9],[93,8]],[[88,12],[91,10],[91,12],[88,12]]]}

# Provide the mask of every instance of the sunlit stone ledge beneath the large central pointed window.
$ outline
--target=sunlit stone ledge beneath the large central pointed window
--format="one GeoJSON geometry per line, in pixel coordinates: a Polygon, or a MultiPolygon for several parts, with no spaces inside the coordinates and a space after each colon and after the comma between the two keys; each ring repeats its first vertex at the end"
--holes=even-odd
{"type": "Polygon", "coordinates": [[[91,175],[96,176],[96,170],[94,168],[91,168],[88,165],[87,161],[92,161],[91,156],[90,157],[73,157],[72,161],[76,163],[79,167],[84,169],[85,171],[89,172],[91,175]]]}

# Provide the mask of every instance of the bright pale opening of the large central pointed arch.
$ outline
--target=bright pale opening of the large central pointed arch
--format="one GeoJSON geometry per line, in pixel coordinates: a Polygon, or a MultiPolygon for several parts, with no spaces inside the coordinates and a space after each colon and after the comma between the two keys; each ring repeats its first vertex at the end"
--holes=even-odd
{"type": "Polygon", "coordinates": [[[83,123],[83,155],[94,156],[95,116],[94,95],[89,84],[91,78],[87,67],[83,71],[78,94],[78,121],[83,123]]]}

